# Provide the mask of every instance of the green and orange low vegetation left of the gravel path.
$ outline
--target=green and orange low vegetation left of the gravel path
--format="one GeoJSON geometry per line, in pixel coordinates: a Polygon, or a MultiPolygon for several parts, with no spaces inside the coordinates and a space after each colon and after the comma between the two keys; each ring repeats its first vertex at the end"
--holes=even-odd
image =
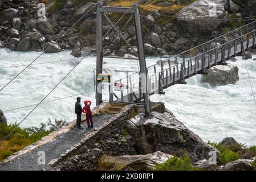
{"type": "Polygon", "coordinates": [[[5,138],[13,129],[15,129],[13,133],[11,133],[9,137],[7,137],[6,140],[0,145],[0,162],[66,124],[66,121],[55,119],[55,121],[52,122],[49,119],[47,123],[49,126],[48,129],[46,129],[47,125],[44,123],[41,123],[39,127],[22,129],[21,127],[17,127],[17,123],[10,125],[0,123],[1,140],[5,138]]]}

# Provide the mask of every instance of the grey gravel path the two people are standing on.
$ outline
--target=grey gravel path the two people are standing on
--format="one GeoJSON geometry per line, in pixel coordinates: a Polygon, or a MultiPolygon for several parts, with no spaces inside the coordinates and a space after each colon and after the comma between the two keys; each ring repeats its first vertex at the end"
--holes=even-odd
{"type": "MultiPolygon", "coordinates": [[[[112,114],[95,115],[94,127],[102,125],[112,117],[112,114]]],[[[52,159],[59,158],[61,154],[66,152],[71,146],[74,146],[80,141],[80,139],[86,135],[90,130],[86,130],[87,123],[82,122],[83,130],[76,128],[68,131],[67,133],[59,135],[51,142],[43,144],[42,146],[34,148],[34,150],[27,152],[17,158],[11,160],[6,164],[0,164],[0,171],[35,171],[35,170],[51,170],[51,167],[47,165],[52,159]],[[46,165],[38,164],[38,152],[45,151],[46,165]]]]}

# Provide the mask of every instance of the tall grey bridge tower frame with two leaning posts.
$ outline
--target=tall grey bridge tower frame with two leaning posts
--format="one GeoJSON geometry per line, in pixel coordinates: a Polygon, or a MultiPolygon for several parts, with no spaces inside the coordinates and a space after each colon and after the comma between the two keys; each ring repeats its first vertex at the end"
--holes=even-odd
{"type": "MultiPolygon", "coordinates": [[[[125,13],[125,14],[133,14],[135,27],[136,27],[136,36],[137,36],[137,44],[139,47],[139,65],[140,65],[140,73],[144,76],[141,77],[141,88],[144,89],[143,92],[143,100],[145,104],[145,115],[150,117],[151,114],[151,101],[149,98],[149,93],[147,89],[147,65],[145,61],[144,55],[144,44],[143,37],[141,32],[141,19],[140,19],[140,10],[139,4],[135,3],[132,7],[110,7],[103,6],[103,2],[99,1],[97,4],[97,28],[96,28],[96,51],[97,51],[97,61],[96,61],[96,73],[102,73],[103,69],[103,16],[108,20],[109,23],[112,24],[112,27],[116,29],[111,20],[108,19],[105,13],[125,13]]],[[[96,86],[97,88],[97,86],[96,86]]],[[[102,93],[97,92],[96,90],[96,105],[99,105],[102,102],[102,93]]]]}

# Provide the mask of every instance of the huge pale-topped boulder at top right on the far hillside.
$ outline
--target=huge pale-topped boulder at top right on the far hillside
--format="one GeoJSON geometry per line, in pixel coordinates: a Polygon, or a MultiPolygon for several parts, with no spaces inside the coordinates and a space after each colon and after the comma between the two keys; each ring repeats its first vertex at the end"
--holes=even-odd
{"type": "Polygon", "coordinates": [[[197,0],[176,14],[182,31],[193,36],[211,34],[220,26],[225,0],[197,0]]]}

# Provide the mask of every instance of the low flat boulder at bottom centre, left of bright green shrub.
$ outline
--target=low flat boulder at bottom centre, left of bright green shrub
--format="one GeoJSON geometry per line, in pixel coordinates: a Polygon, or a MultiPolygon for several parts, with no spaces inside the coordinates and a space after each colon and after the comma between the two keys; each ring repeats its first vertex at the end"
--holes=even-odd
{"type": "Polygon", "coordinates": [[[146,171],[148,168],[154,169],[156,164],[162,164],[172,157],[172,155],[157,151],[153,154],[145,155],[105,156],[100,162],[112,164],[110,169],[107,168],[105,170],[146,171]]]}

